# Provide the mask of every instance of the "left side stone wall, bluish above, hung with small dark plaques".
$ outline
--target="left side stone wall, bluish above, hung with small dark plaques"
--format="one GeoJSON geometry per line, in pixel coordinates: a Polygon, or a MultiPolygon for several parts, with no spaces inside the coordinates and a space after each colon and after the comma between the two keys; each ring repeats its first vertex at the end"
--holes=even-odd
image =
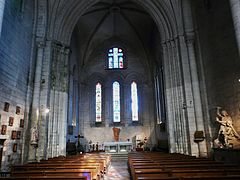
{"type": "Polygon", "coordinates": [[[2,170],[6,171],[10,164],[19,163],[23,151],[24,128],[20,127],[20,119],[28,120],[29,106],[27,97],[31,95],[29,80],[31,63],[31,44],[33,30],[33,1],[11,0],[5,2],[3,26],[0,38],[0,128],[7,126],[7,140],[4,143],[2,170]],[[28,88],[29,87],[29,88],[28,88]],[[4,111],[5,102],[9,103],[9,111],[4,111]],[[16,114],[16,106],[20,114],[16,114]],[[13,117],[13,124],[9,124],[13,117]],[[19,131],[20,137],[12,139],[12,132],[19,131]],[[16,152],[13,145],[17,144],[16,152]]]}

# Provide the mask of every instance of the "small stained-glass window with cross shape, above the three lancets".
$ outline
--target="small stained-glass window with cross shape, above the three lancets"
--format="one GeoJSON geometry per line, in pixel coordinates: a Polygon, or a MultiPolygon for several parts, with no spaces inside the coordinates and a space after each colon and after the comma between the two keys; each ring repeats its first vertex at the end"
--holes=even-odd
{"type": "Polygon", "coordinates": [[[121,48],[111,48],[108,51],[108,68],[123,68],[123,50],[121,48]]]}

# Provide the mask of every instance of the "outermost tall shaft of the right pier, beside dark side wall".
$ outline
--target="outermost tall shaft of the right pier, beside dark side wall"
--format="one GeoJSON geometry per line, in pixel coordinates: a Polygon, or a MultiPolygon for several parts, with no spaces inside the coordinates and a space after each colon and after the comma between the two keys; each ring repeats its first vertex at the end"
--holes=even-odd
{"type": "Polygon", "coordinates": [[[189,137],[191,142],[191,153],[196,156],[206,156],[207,146],[206,141],[196,143],[194,142],[194,133],[196,131],[205,132],[204,116],[202,110],[202,100],[200,95],[200,85],[198,79],[198,68],[196,63],[196,53],[194,48],[195,43],[195,31],[193,25],[193,16],[191,9],[191,1],[183,1],[183,21],[184,21],[184,37],[180,36],[183,64],[183,73],[186,71],[189,73],[188,88],[185,92],[190,92],[189,99],[186,98],[185,109],[189,115],[189,137]],[[184,42],[185,41],[185,42],[184,42]],[[189,114],[191,113],[191,114],[189,114]]]}

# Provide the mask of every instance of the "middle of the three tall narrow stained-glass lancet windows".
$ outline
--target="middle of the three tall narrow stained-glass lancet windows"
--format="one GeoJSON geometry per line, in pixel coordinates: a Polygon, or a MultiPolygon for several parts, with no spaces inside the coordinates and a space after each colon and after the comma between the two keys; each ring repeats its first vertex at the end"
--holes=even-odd
{"type": "Polygon", "coordinates": [[[113,83],[113,122],[120,122],[120,84],[113,83]]]}

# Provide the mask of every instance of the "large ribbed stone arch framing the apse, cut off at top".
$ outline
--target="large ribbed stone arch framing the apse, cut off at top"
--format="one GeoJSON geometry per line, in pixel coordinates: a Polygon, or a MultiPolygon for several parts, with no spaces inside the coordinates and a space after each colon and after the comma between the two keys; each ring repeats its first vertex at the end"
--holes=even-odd
{"type": "MultiPolygon", "coordinates": [[[[63,44],[69,44],[73,29],[81,15],[99,0],[91,1],[61,1],[48,2],[40,0],[38,10],[38,31],[43,36],[42,24],[48,22],[47,37],[56,39],[63,44]],[[44,10],[45,9],[45,10],[44,10]],[[46,9],[52,9],[52,13],[47,14],[46,9]],[[57,17],[57,18],[56,18],[57,17]]],[[[173,5],[168,1],[140,1],[133,0],[134,3],[142,6],[150,14],[157,24],[160,36],[163,41],[172,39],[177,35],[177,15],[173,5]]],[[[46,26],[45,26],[46,27],[46,26]]],[[[40,35],[40,34],[39,34],[40,35]]]]}

